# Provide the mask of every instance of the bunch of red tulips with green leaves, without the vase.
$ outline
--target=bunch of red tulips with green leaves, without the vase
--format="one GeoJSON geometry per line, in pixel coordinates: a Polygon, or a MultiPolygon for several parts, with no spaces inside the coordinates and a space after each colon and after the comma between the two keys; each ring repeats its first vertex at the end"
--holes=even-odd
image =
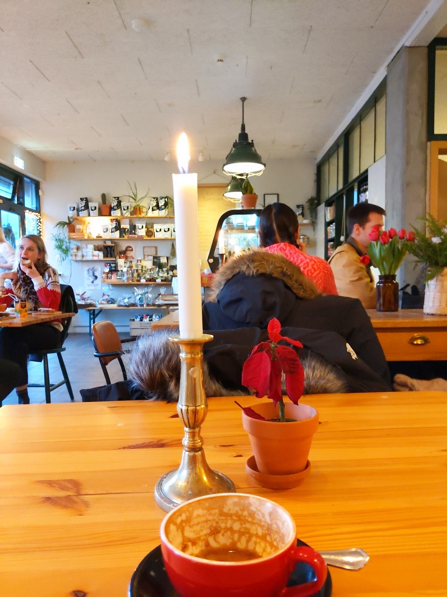
{"type": "Polygon", "coordinates": [[[371,232],[368,254],[362,255],[360,263],[377,267],[380,275],[392,276],[402,264],[408,250],[407,242],[413,242],[415,235],[412,230],[406,232],[404,228],[399,231],[395,228],[381,230],[376,224],[371,232]],[[406,241],[406,242],[405,242],[406,241]]]}

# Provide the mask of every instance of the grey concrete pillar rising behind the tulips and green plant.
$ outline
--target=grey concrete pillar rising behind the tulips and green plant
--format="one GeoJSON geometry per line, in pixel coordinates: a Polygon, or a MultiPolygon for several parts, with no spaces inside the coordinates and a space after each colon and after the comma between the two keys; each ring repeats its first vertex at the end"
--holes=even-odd
{"type": "MultiPolygon", "coordinates": [[[[426,213],[427,48],[403,47],[387,68],[386,225],[420,227],[426,213]]],[[[414,284],[414,258],[406,256],[399,285],[414,284]]]]}

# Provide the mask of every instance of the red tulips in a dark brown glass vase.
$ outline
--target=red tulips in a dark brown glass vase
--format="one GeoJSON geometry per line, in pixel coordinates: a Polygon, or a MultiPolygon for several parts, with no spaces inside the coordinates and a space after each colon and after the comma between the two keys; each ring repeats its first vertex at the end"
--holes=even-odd
{"type": "Polygon", "coordinates": [[[363,255],[360,262],[364,265],[371,263],[379,271],[376,285],[377,310],[398,311],[399,284],[396,272],[402,264],[409,243],[414,241],[414,232],[406,232],[403,228],[399,232],[395,228],[382,231],[377,224],[368,236],[371,240],[368,254],[363,255]]]}

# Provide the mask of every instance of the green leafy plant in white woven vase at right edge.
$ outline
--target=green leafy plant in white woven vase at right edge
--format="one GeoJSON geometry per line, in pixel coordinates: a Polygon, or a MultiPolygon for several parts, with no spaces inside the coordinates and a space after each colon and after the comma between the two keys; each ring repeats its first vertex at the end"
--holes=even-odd
{"type": "Polygon", "coordinates": [[[421,219],[427,235],[413,227],[415,242],[408,252],[426,267],[424,313],[447,315],[447,221],[436,221],[432,214],[421,219]]]}

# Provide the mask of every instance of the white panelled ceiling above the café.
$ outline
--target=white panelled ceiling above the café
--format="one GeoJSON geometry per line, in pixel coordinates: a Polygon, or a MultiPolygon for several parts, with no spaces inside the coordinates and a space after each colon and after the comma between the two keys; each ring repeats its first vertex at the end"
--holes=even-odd
{"type": "Polygon", "coordinates": [[[310,155],[427,4],[2,0],[0,135],[100,161],[163,159],[186,130],[192,152],[223,161],[246,96],[263,158],[310,155]]]}

